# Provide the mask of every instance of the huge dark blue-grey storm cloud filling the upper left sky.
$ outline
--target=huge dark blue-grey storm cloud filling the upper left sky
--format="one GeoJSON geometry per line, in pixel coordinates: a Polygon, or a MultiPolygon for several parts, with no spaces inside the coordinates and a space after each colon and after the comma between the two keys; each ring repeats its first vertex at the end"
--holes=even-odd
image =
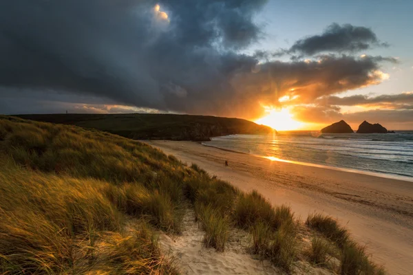
{"type": "Polygon", "coordinates": [[[231,49],[257,39],[252,16],[264,3],[2,1],[0,85],[185,111],[187,104],[228,89],[231,74],[255,63],[231,49]],[[187,102],[176,98],[177,89],[187,102]]]}

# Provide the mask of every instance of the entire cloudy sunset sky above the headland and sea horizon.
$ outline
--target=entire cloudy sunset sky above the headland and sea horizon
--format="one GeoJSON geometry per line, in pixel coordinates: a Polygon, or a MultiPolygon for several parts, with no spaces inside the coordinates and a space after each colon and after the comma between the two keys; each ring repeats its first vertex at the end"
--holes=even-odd
{"type": "Polygon", "coordinates": [[[413,129],[413,1],[0,3],[0,113],[413,129]]]}

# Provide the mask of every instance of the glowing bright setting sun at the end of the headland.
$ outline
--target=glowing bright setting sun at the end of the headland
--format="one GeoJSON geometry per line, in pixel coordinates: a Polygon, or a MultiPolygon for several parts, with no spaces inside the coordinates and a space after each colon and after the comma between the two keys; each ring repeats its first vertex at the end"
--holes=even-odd
{"type": "Polygon", "coordinates": [[[291,131],[300,129],[304,123],[293,119],[288,109],[266,109],[268,115],[255,120],[257,124],[270,126],[277,131],[291,131]]]}

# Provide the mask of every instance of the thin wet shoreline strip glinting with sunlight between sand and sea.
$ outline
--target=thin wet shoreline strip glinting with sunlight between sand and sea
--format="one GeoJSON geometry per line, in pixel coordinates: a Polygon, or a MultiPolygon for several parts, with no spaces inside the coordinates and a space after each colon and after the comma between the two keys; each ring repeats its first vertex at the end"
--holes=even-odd
{"type": "Polygon", "coordinates": [[[401,180],[401,181],[411,181],[413,183],[413,177],[409,177],[407,175],[386,174],[386,173],[372,172],[372,171],[367,171],[367,170],[357,170],[357,169],[352,169],[352,168],[328,166],[328,165],[323,165],[323,164],[313,164],[313,163],[310,163],[310,162],[297,162],[295,160],[279,159],[277,157],[266,157],[264,155],[255,155],[255,154],[244,153],[244,152],[235,151],[235,150],[231,150],[231,149],[227,149],[227,148],[222,148],[222,147],[219,147],[219,146],[204,144],[204,142],[200,142],[198,144],[200,144],[202,146],[216,148],[218,150],[222,150],[222,151],[226,151],[226,152],[232,152],[232,153],[238,153],[238,154],[244,154],[244,155],[252,155],[254,157],[262,157],[264,159],[269,159],[273,162],[286,162],[286,163],[290,163],[290,164],[297,164],[297,165],[303,165],[303,166],[311,166],[311,167],[318,167],[318,168],[324,168],[324,169],[339,170],[339,171],[348,172],[348,173],[356,173],[356,174],[361,174],[361,175],[370,175],[372,177],[383,177],[385,179],[396,179],[396,180],[401,180]]]}

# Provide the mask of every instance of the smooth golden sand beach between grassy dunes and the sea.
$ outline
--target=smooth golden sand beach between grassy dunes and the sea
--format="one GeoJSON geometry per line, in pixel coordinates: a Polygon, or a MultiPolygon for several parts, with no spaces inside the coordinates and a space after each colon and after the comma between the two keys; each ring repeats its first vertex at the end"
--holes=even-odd
{"type": "Polygon", "coordinates": [[[241,190],[256,189],[306,219],[325,212],[346,224],[390,274],[413,274],[413,183],[222,151],[194,142],[151,141],[241,190]],[[229,167],[224,167],[224,160],[229,167]]]}

